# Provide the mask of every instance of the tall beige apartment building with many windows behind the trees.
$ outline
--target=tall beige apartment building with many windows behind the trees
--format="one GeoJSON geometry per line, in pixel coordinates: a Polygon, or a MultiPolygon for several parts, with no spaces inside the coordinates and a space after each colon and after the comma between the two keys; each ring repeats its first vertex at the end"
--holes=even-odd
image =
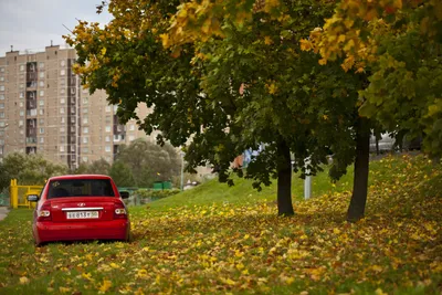
{"type": "MultiPolygon", "coordinates": [[[[75,50],[59,45],[0,57],[0,160],[9,152],[41,154],[70,168],[112,161],[122,144],[147,137],[134,120],[118,123],[105,92],[88,94],[72,71],[75,50]]],[[[138,107],[140,117],[148,113],[138,107]]]]}

